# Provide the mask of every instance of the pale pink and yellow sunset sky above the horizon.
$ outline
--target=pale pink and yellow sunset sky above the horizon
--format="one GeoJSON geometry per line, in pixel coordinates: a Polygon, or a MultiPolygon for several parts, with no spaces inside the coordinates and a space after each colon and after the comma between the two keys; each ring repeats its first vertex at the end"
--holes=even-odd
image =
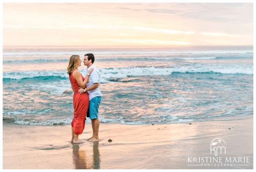
{"type": "Polygon", "coordinates": [[[3,46],[253,45],[253,3],[3,3],[3,46]]]}

